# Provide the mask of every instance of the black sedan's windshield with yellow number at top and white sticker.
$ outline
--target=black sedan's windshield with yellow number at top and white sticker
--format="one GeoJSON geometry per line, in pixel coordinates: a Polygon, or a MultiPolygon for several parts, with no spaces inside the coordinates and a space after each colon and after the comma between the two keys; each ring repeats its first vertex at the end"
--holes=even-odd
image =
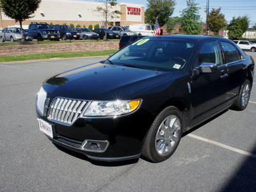
{"type": "Polygon", "coordinates": [[[127,67],[180,71],[188,63],[194,45],[193,40],[142,38],[116,52],[108,60],[114,65],[127,67]]]}

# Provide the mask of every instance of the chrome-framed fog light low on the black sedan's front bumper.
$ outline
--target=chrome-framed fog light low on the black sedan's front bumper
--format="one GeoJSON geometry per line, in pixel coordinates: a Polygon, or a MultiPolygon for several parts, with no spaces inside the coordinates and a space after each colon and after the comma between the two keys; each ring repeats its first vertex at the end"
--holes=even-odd
{"type": "Polygon", "coordinates": [[[101,141],[101,140],[85,140],[81,145],[81,150],[89,151],[89,152],[105,152],[108,148],[109,141],[101,141]]]}

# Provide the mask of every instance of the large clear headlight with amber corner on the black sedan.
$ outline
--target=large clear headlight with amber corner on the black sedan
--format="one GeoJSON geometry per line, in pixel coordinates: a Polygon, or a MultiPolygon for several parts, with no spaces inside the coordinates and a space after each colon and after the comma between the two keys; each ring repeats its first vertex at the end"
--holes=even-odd
{"type": "Polygon", "coordinates": [[[92,101],[83,116],[119,116],[132,113],[140,107],[138,100],[92,101]]]}

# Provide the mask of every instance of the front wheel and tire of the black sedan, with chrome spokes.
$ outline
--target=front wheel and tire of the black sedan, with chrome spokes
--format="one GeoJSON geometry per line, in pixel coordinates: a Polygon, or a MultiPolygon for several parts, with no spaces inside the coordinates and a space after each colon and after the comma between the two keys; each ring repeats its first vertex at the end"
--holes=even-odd
{"type": "Polygon", "coordinates": [[[179,109],[173,106],[163,109],[148,131],[141,155],[154,163],[165,161],[178,147],[182,128],[179,109]]]}

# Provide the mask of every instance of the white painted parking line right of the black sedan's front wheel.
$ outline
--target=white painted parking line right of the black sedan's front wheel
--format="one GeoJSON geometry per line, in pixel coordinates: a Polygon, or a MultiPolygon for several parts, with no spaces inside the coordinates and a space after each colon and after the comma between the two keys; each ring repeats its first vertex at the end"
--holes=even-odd
{"type": "Polygon", "coordinates": [[[222,147],[222,148],[227,148],[228,150],[232,150],[232,151],[237,152],[239,154],[243,154],[244,156],[249,156],[249,157],[253,157],[253,158],[256,159],[256,155],[252,154],[250,152],[246,152],[246,151],[240,150],[238,148],[230,147],[228,145],[225,145],[225,144],[222,144],[222,143],[219,143],[219,142],[216,142],[216,141],[207,140],[207,139],[202,138],[200,136],[196,136],[195,134],[188,134],[188,136],[191,137],[191,138],[194,138],[196,140],[205,141],[207,143],[211,143],[213,145],[216,145],[216,146],[219,146],[219,147],[222,147]]]}

